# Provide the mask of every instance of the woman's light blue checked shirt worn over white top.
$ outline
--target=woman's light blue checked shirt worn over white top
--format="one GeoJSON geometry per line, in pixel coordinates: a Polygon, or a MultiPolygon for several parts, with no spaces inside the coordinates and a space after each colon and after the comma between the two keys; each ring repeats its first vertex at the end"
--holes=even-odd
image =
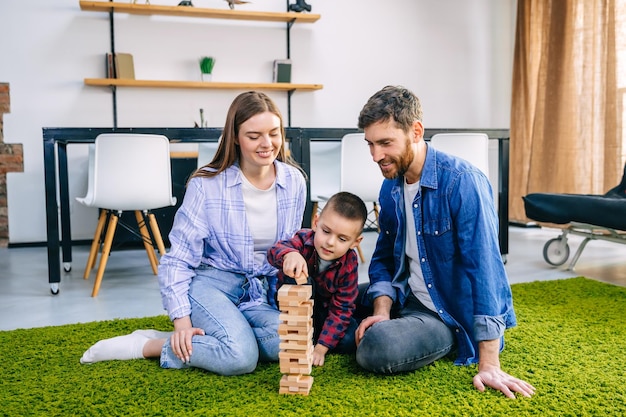
{"type": "MultiPolygon", "coordinates": [[[[276,240],[291,238],[302,226],[306,182],[295,167],[275,161],[276,240]]],[[[191,313],[188,292],[200,264],[245,275],[275,276],[267,260],[254,262],[254,241],[243,201],[242,176],[234,164],[215,177],[196,177],[187,185],[169,234],[171,248],[159,264],[163,307],[171,320],[191,313]]]]}

